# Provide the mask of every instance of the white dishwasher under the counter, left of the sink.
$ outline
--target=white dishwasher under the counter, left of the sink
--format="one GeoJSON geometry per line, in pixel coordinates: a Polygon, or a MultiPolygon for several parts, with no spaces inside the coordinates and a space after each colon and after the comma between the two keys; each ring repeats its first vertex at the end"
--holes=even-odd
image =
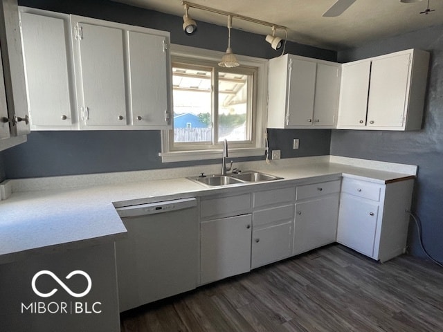
{"type": "Polygon", "coordinates": [[[127,237],[116,241],[120,312],[197,286],[197,200],[116,209],[127,237]]]}

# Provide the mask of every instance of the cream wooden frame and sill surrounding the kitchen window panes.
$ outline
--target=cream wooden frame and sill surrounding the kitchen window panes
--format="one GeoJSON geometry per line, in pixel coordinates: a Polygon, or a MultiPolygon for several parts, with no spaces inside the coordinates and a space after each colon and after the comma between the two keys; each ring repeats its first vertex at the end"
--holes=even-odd
{"type": "MultiPolygon", "coordinates": [[[[195,64],[205,66],[207,64],[214,64],[219,62],[219,59],[224,55],[219,51],[205,50],[201,48],[194,48],[190,46],[171,45],[171,56],[174,57],[174,62],[180,62],[180,59],[188,59],[195,64]],[[177,61],[175,61],[177,59],[177,61]]],[[[268,82],[268,60],[257,57],[248,57],[244,55],[236,55],[239,62],[244,67],[256,68],[256,77],[253,77],[252,89],[255,93],[253,98],[252,126],[251,126],[251,143],[244,144],[243,142],[230,142],[229,155],[230,157],[247,157],[247,156],[262,156],[264,154],[264,135],[266,133],[266,113],[267,113],[267,82],[268,82]]],[[[229,72],[229,68],[222,68],[220,71],[229,72]]],[[[172,75],[172,66],[171,66],[172,75]]],[[[217,77],[215,77],[217,80],[217,77]]],[[[171,87],[172,89],[172,87],[171,87]]],[[[172,95],[172,93],[171,93],[172,95]]],[[[221,158],[222,144],[215,142],[208,149],[195,148],[191,145],[180,145],[179,149],[171,149],[171,139],[174,139],[174,129],[161,131],[161,156],[162,163],[187,161],[187,160],[201,160],[201,159],[215,159],[221,158]],[[184,147],[184,148],[183,148],[184,147]]]]}

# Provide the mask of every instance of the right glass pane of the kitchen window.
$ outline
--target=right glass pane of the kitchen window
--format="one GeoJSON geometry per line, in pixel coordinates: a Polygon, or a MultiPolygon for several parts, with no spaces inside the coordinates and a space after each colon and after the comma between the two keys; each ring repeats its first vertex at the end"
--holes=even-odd
{"type": "Polygon", "coordinates": [[[251,98],[248,75],[219,72],[219,142],[251,140],[248,131],[251,98]]]}

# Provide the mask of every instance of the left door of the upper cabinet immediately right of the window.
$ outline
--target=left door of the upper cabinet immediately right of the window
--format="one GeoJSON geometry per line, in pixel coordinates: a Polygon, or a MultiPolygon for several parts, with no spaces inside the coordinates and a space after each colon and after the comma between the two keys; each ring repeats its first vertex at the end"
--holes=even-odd
{"type": "Polygon", "coordinates": [[[312,125],[316,89],[316,63],[289,60],[287,127],[312,125]]]}

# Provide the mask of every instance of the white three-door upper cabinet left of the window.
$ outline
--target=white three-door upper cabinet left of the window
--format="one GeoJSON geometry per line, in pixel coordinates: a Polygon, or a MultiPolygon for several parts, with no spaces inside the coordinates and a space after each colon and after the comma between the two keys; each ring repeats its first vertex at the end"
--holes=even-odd
{"type": "Polygon", "coordinates": [[[169,33],[20,11],[32,130],[170,129],[169,33]]]}

